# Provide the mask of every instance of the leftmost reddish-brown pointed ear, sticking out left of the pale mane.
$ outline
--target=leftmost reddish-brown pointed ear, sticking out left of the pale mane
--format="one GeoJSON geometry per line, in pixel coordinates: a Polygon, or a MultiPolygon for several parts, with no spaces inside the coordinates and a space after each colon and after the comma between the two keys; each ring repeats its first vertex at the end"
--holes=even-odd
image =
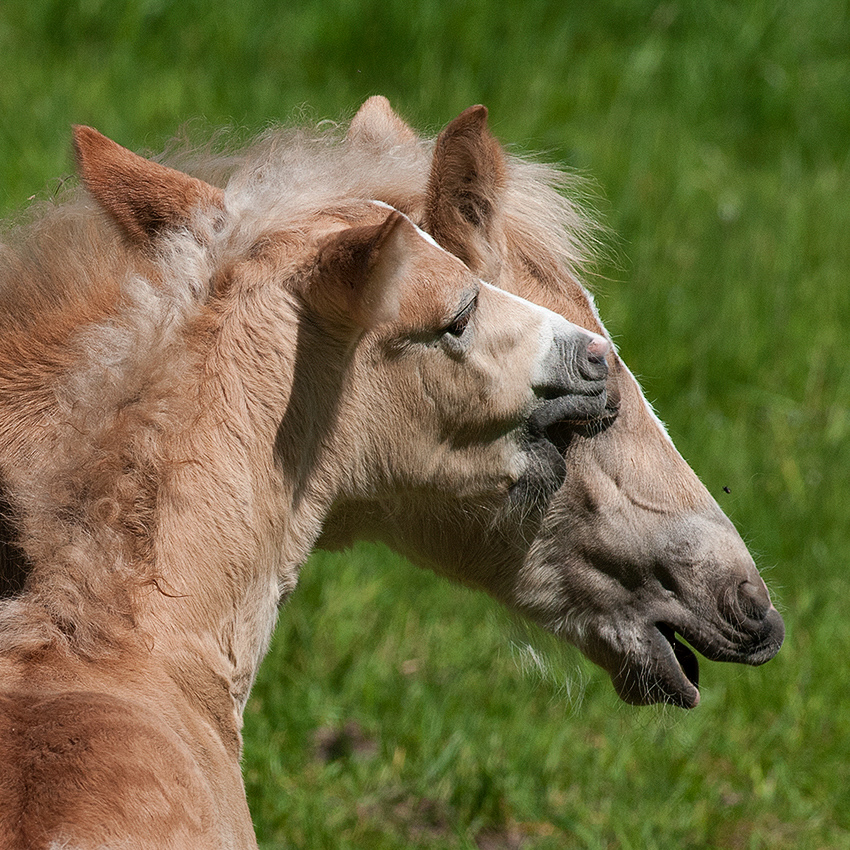
{"type": "Polygon", "coordinates": [[[221,189],[138,156],[91,127],[74,127],[74,152],[86,189],[136,245],[190,225],[198,208],[224,209],[221,189]]]}

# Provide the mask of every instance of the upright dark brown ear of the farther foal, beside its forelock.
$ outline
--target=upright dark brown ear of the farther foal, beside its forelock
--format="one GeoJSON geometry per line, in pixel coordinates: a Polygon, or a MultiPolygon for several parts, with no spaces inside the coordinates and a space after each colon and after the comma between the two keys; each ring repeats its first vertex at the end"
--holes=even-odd
{"type": "Polygon", "coordinates": [[[484,240],[505,182],[505,154],[487,126],[487,108],[470,106],[437,138],[425,229],[470,268],[484,262],[484,240]]]}

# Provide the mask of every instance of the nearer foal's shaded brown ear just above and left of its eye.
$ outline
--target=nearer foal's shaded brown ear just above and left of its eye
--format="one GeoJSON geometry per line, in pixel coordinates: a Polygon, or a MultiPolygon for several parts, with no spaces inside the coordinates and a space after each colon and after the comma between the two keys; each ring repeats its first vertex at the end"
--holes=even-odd
{"type": "Polygon", "coordinates": [[[392,321],[399,311],[392,285],[412,257],[415,226],[393,210],[381,224],[351,227],[319,250],[305,300],[326,318],[369,329],[392,321]]]}

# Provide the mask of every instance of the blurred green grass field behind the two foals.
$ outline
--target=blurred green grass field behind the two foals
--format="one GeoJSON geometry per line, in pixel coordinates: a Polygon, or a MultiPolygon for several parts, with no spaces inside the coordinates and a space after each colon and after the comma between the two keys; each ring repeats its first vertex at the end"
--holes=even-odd
{"type": "Polygon", "coordinates": [[[261,845],[850,848],[850,4],[2,0],[0,207],[69,173],[72,123],[156,149],[375,93],[434,132],[486,103],[595,179],[603,316],[788,637],[634,709],[481,596],[316,556],[246,713],[261,845]]]}

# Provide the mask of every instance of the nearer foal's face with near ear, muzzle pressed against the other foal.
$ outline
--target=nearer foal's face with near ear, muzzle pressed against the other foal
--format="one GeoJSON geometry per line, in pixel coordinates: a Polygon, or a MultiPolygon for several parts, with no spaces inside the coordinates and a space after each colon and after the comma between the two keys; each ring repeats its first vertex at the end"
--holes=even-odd
{"type": "Polygon", "coordinates": [[[602,413],[610,344],[481,281],[402,213],[355,207],[357,223],[320,241],[299,288],[314,317],[302,334],[318,328],[318,349],[357,328],[325,440],[345,471],[336,501],[544,501],[564,474],[545,430],[602,413]]]}

